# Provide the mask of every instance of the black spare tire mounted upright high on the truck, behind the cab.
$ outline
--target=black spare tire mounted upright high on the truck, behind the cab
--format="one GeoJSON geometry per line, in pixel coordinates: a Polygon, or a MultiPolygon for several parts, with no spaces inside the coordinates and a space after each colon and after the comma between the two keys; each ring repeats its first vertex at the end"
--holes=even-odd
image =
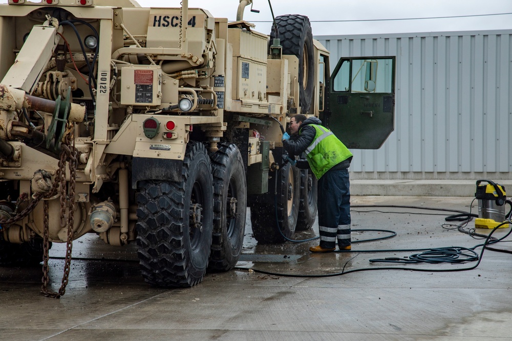
{"type": "MultiPolygon", "coordinates": [[[[283,54],[298,58],[299,105],[302,107],[302,113],[305,114],[310,111],[315,80],[311,24],[307,16],[293,14],[275,17],[275,25],[283,46],[283,54]]],[[[274,30],[273,28],[270,33],[270,41],[275,38],[274,30]]]]}

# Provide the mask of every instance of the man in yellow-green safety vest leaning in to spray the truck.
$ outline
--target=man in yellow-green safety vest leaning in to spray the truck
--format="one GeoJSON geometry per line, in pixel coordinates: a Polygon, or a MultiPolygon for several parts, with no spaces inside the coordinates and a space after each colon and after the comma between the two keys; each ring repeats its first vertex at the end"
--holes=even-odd
{"type": "Polygon", "coordinates": [[[352,153],[316,117],[297,114],[290,119],[290,135],[283,134],[283,146],[289,154],[306,154],[296,166],[311,169],[318,179],[318,228],[320,244],[311,252],[332,252],[336,239],[340,250],[351,249],[350,182],[348,168],[352,153]]]}

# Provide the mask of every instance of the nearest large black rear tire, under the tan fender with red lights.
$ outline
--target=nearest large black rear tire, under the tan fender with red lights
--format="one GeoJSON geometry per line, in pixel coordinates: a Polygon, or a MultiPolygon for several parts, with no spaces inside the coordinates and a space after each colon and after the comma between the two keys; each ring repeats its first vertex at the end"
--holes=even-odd
{"type": "Polygon", "coordinates": [[[138,256],[142,276],[152,285],[194,286],[208,265],[214,195],[202,144],[187,145],[182,178],[139,181],[138,256]]]}

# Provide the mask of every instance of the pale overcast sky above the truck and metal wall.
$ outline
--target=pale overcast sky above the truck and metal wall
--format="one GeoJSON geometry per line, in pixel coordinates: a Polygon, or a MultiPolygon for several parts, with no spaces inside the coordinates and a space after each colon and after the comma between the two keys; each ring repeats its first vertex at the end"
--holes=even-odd
{"type": "MultiPolygon", "coordinates": [[[[0,3],[6,2],[7,0],[0,0],[0,3]]],[[[180,1],[138,0],[138,3],[144,7],[179,7],[180,1]]],[[[216,17],[226,17],[234,21],[239,0],[189,0],[188,3],[189,7],[204,8],[216,17]]],[[[307,15],[312,21],[313,35],[512,29],[512,14],[482,16],[512,13],[512,0],[271,0],[271,4],[275,16],[307,15]],[[326,22],[446,16],[473,17],[326,22]]],[[[247,8],[244,19],[254,22],[257,31],[269,34],[270,22],[255,22],[272,20],[268,0],[254,0],[253,9],[260,13],[251,13],[247,8]]]]}

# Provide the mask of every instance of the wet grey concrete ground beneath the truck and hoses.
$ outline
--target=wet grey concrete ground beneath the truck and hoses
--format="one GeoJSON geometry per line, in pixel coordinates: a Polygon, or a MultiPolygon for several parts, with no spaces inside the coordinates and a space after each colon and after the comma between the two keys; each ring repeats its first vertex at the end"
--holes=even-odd
{"type": "MultiPolygon", "coordinates": [[[[352,197],[353,229],[392,230],[397,236],[354,243],[351,253],[309,253],[308,247],[317,240],[258,245],[250,236],[249,221],[243,257],[263,262],[241,261],[236,270],[207,274],[193,288],[150,287],[139,274],[135,245],[116,248],[104,245],[95,235],[86,236],[74,242],[70,282],[59,300],[39,293],[40,267],[0,268],[0,340],[511,339],[512,255],[485,251],[472,270],[463,269],[476,262],[371,263],[370,259],[418,253],[405,249],[471,248],[483,241],[443,229],[447,212],[354,207],[379,204],[468,211],[471,201],[467,197],[352,197]],[[362,252],[368,250],[375,252],[362,252]],[[279,256],[268,262],[264,258],[269,255],[279,256]],[[320,277],[340,272],[345,273],[320,277]]],[[[473,226],[471,222],[468,228],[473,226]]],[[[508,232],[500,229],[493,236],[508,232]]],[[[294,238],[315,235],[316,225],[294,238]]],[[[353,232],[352,240],[385,235],[353,232]]],[[[512,251],[510,242],[493,246],[512,251]]],[[[55,290],[62,278],[59,257],[64,249],[65,245],[54,244],[50,253],[55,290]]],[[[481,249],[475,250],[480,254],[481,249]]]]}

